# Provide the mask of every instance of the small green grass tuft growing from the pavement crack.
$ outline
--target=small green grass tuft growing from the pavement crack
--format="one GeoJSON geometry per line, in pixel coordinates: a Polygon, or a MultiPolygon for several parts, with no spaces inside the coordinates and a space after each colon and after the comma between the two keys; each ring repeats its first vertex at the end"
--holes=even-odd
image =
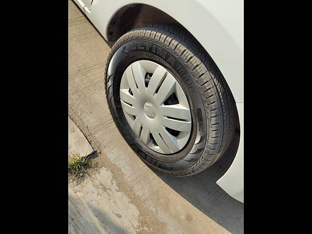
{"type": "Polygon", "coordinates": [[[91,165],[92,159],[76,155],[71,162],[68,162],[68,174],[75,176],[83,176],[91,165]]]}

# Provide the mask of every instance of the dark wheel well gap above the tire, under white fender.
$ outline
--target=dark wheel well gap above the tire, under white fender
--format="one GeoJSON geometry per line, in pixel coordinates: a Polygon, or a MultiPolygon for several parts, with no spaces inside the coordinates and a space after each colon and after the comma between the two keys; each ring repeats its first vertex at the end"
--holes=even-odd
{"type": "Polygon", "coordinates": [[[109,22],[107,39],[116,42],[126,32],[149,23],[170,23],[184,28],[174,18],[154,6],[130,4],[119,9],[109,22]]]}

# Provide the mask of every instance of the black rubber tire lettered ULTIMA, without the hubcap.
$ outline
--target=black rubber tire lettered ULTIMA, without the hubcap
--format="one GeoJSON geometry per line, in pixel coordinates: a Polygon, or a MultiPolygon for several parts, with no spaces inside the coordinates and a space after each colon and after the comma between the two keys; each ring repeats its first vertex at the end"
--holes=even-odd
{"type": "Polygon", "coordinates": [[[214,61],[180,27],[151,24],[119,38],[107,59],[105,91],[121,135],[144,163],[165,174],[191,176],[207,169],[223,155],[234,136],[237,114],[232,93],[214,61]],[[121,76],[130,63],[141,59],[169,70],[189,99],[193,130],[184,149],[172,157],[175,160],[165,160],[142,144],[122,113],[121,76]]]}

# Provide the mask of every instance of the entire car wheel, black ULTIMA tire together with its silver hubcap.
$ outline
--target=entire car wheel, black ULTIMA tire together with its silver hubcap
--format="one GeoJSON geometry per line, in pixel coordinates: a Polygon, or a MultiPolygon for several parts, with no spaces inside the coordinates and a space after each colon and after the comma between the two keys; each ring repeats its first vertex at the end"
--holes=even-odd
{"type": "Polygon", "coordinates": [[[119,38],[107,60],[105,91],[122,137],[157,171],[201,172],[233,138],[231,91],[201,45],[177,26],[147,25],[119,38]]]}

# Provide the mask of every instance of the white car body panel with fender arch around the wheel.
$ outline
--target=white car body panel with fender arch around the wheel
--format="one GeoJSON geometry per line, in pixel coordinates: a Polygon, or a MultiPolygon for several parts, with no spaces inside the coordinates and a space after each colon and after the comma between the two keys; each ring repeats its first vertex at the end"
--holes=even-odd
{"type": "Polygon", "coordinates": [[[244,3],[243,0],[75,0],[105,39],[118,10],[133,4],[153,6],[185,27],[214,59],[233,93],[240,122],[234,161],[216,183],[244,202],[244,3]]]}

